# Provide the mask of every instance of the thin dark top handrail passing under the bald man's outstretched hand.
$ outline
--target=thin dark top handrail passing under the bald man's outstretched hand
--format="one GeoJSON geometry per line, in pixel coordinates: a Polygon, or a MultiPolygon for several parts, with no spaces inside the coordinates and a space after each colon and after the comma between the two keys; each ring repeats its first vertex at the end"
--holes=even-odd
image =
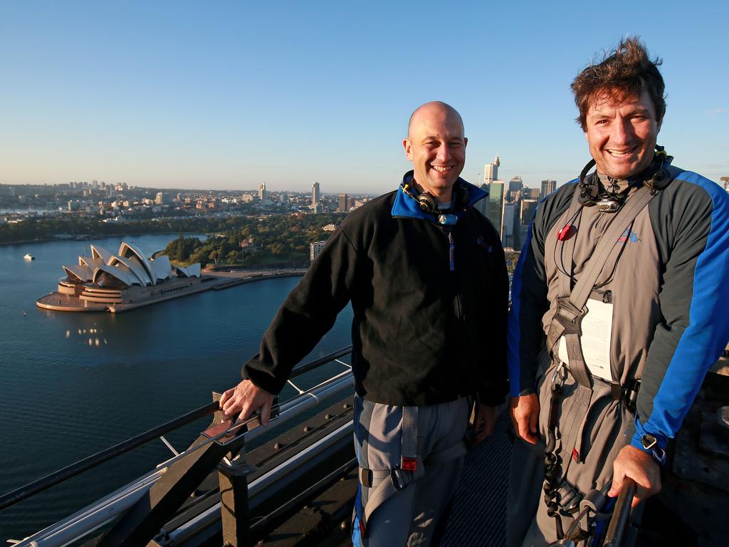
{"type": "MultiPolygon", "coordinates": [[[[321,365],[325,365],[327,362],[331,362],[338,357],[342,357],[343,355],[350,353],[351,349],[352,346],[348,346],[346,348],[339,349],[336,352],[332,352],[331,354],[324,355],[324,357],[319,357],[319,359],[310,361],[305,365],[301,365],[300,367],[297,367],[292,371],[291,376],[300,376],[305,372],[312,371],[313,369],[318,368],[321,365]]],[[[287,403],[289,403],[289,401],[287,401],[287,403]]],[[[15,490],[12,490],[11,492],[8,492],[7,494],[3,494],[2,496],[0,496],[0,511],[10,507],[11,505],[15,505],[16,503],[20,503],[21,501],[26,500],[28,499],[28,497],[34,496],[39,492],[43,492],[44,490],[47,490],[52,486],[60,484],[63,481],[67,481],[69,478],[77,476],[80,473],[84,473],[91,468],[95,468],[97,465],[108,462],[109,459],[114,459],[117,456],[125,454],[128,451],[131,451],[143,444],[148,443],[149,441],[160,438],[160,436],[165,435],[165,433],[174,431],[179,427],[182,427],[183,425],[195,422],[195,420],[200,419],[203,416],[207,416],[208,414],[213,414],[217,410],[219,410],[219,404],[217,402],[208,403],[205,406],[201,406],[200,408],[197,408],[192,412],[188,412],[187,414],[183,414],[182,416],[172,419],[169,422],[158,425],[157,427],[141,433],[140,435],[136,435],[132,438],[127,439],[126,441],[122,441],[121,443],[117,443],[114,446],[110,446],[108,449],[104,449],[97,452],[96,454],[92,454],[91,456],[80,459],[77,462],[67,465],[65,468],[55,471],[54,473],[50,473],[49,475],[39,478],[36,481],[32,481],[25,486],[20,486],[20,488],[17,488],[15,490]]],[[[257,435],[252,436],[254,437],[257,435]]],[[[194,448],[199,447],[200,446],[198,445],[194,448]]],[[[180,454],[180,456],[182,455],[184,455],[184,453],[180,454]]]]}

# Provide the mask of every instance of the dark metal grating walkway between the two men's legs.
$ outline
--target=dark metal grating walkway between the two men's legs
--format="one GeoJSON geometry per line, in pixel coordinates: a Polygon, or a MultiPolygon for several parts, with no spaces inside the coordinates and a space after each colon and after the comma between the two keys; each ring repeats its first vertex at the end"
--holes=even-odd
{"type": "Polygon", "coordinates": [[[506,545],[506,494],[511,457],[508,421],[504,408],[491,436],[467,455],[442,546],[506,545]]]}

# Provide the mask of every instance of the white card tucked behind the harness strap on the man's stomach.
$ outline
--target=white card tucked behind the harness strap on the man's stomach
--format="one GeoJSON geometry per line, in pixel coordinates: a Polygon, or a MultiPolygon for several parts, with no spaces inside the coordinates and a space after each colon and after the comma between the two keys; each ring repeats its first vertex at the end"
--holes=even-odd
{"type": "MultiPolygon", "coordinates": [[[[615,381],[610,368],[610,341],[612,339],[612,304],[602,300],[588,300],[588,311],[582,317],[582,357],[585,357],[590,373],[606,381],[615,381]]],[[[559,338],[559,358],[569,363],[564,336],[559,338]]]]}

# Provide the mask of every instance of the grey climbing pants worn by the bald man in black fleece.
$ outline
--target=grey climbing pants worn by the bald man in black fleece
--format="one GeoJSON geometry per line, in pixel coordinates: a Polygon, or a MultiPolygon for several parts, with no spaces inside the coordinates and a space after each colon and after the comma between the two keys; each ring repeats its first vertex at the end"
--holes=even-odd
{"type": "Polygon", "coordinates": [[[399,474],[404,480],[397,481],[391,473],[401,463],[402,409],[355,397],[354,449],[360,482],[353,514],[354,546],[429,545],[458,485],[469,400],[418,407],[418,468],[399,474]],[[429,462],[430,456],[434,462],[429,462]],[[374,480],[367,479],[367,473],[374,480]],[[385,497],[381,486],[388,492],[385,497]]]}

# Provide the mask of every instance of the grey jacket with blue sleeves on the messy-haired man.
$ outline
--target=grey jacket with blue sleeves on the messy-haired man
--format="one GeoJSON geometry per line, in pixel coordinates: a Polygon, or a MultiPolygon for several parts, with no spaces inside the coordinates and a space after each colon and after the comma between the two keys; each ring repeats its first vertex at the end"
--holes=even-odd
{"type": "MultiPolygon", "coordinates": [[[[555,247],[576,185],[569,182],[539,204],[515,271],[508,348],[512,397],[547,389],[545,335],[559,271],[569,266],[555,247]]],[[[596,284],[598,298],[609,292],[612,300],[612,376],[623,385],[642,382],[634,424],[623,424],[625,441],[639,449],[645,433],[663,448],[677,434],[729,339],[729,194],[674,166],[655,188],[655,197],[618,239],[623,247],[617,260],[605,265],[596,284]]],[[[574,236],[577,279],[615,218],[596,209],[582,208],[574,236]]],[[[600,420],[593,416],[595,424],[600,420]]]]}

